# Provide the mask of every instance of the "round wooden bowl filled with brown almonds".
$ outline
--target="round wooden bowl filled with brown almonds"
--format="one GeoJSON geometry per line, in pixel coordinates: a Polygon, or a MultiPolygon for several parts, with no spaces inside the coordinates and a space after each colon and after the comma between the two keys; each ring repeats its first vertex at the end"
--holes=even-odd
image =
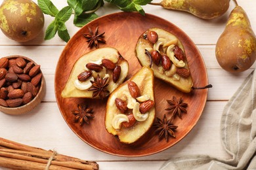
{"type": "Polygon", "coordinates": [[[24,114],[41,103],[45,78],[40,65],[24,56],[0,58],[0,111],[24,114]]]}

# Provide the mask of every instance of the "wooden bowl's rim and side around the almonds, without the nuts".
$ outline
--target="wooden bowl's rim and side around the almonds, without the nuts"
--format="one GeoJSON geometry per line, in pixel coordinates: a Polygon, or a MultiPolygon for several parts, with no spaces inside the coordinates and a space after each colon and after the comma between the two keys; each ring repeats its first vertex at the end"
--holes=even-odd
{"type": "MultiPolygon", "coordinates": [[[[24,57],[24,56],[14,55],[14,56],[7,56],[5,58],[8,58],[8,59],[23,58],[27,62],[30,61],[34,65],[37,65],[37,63],[35,63],[35,61],[33,61],[30,58],[24,57]]],[[[41,72],[41,70],[40,70],[40,72],[41,72]]],[[[39,103],[41,103],[43,97],[45,96],[45,92],[46,92],[45,78],[42,75],[42,77],[41,77],[41,86],[39,88],[39,91],[38,91],[37,95],[35,95],[35,97],[32,99],[32,101],[30,101],[26,105],[21,105],[20,107],[3,107],[3,106],[0,106],[0,111],[5,112],[6,114],[12,114],[12,115],[19,115],[19,114],[24,114],[26,112],[29,112],[30,110],[34,109],[39,103]]]]}

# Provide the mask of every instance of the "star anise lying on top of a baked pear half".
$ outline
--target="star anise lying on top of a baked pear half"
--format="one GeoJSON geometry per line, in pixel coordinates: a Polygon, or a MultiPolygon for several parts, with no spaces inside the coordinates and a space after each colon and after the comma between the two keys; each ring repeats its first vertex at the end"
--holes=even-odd
{"type": "Polygon", "coordinates": [[[96,77],[96,81],[91,81],[93,86],[89,88],[89,91],[93,91],[93,98],[99,96],[100,99],[106,97],[110,92],[107,90],[108,77],[100,78],[99,75],[96,77]]]}

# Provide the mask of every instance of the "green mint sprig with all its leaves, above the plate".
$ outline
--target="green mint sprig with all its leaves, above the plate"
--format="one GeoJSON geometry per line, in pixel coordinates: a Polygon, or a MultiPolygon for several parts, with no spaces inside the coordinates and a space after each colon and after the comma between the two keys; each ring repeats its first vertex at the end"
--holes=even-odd
{"type": "MultiPolygon", "coordinates": [[[[141,5],[147,5],[152,0],[104,0],[108,3],[116,5],[120,10],[132,12],[137,11],[144,15],[145,12],[141,5]]],[[[50,0],[37,0],[40,9],[44,14],[54,17],[53,22],[47,27],[45,31],[45,40],[53,39],[58,33],[58,36],[63,41],[68,42],[70,35],[65,23],[74,14],[74,25],[83,27],[83,25],[98,18],[95,13],[100,7],[104,5],[103,0],[67,0],[68,6],[58,10],[50,0]]]]}

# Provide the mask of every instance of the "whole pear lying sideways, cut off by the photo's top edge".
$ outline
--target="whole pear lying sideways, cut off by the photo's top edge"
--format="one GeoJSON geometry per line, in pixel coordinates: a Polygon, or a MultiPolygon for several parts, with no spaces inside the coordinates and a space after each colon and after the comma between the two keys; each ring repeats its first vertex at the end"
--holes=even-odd
{"type": "Polygon", "coordinates": [[[183,10],[202,19],[213,19],[223,15],[228,10],[230,0],[163,0],[160,3],[164,9],[183,10]]]}

